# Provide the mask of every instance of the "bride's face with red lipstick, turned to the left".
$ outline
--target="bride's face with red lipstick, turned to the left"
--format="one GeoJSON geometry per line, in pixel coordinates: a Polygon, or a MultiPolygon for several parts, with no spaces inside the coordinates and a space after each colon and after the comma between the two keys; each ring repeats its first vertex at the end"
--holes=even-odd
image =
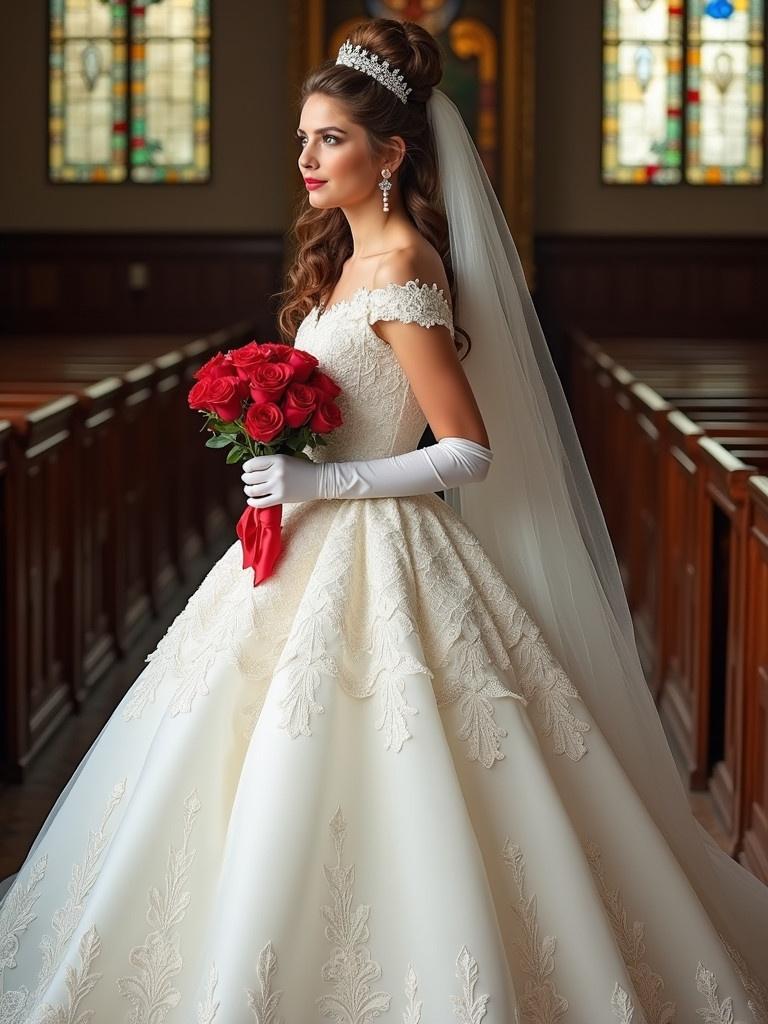
{"type": "Polygon", "coordinates": [[[381,162],[374,160],[366,129],[352,124],[341,103],[312,93],[302,108],[296,136],[302,179],[325,182],[307,188],[313,207],[351,207],[379,195],[381,162]]]}

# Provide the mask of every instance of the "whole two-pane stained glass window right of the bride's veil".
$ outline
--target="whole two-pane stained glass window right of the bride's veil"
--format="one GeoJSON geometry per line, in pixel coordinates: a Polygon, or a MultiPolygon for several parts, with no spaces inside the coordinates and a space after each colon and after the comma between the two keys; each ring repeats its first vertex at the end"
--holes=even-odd
{"type": "Polygon", "coordinates": [[[763,0],[603,0],[602,180],[763,179],[763,0]]]}

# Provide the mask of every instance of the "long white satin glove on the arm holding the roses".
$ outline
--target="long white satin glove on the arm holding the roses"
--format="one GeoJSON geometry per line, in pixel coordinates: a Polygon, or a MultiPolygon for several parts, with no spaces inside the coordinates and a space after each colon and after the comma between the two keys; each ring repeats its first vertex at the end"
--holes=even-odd
{"type": "Polygon", "coordinates": [[[404,455],[351,462],[259,455],[243,463],[243,489],[253,508],[314,498],[404,498],[483,480],[493,458],[490,449],[466,437],[441,437],[404,455]]]}

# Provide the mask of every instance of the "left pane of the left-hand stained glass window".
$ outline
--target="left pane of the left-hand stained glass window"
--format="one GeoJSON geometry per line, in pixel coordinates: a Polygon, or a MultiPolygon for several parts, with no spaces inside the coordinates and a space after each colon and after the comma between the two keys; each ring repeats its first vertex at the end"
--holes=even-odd
{"type": "Polygon", "coordinates": [[[51,181],[124,181],[125,0],[51,0],[48,168],[51,181]]]}

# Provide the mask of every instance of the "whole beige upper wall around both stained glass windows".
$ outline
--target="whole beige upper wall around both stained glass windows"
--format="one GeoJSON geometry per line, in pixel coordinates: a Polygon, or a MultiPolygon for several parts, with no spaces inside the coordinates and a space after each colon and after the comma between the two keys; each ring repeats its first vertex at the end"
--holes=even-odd
{"type": "MultiPolygon", "coordinates": [[[[295,153],[288,3],[215,5],[213,180],[174,188],[46,181],[45,3],[9,5],[0,34],[0,230],[285,230],[295,153]]],[[[536,230],[764,234],[768,185],[600,183],[600,6],[537,0],[536,230]]]]}

